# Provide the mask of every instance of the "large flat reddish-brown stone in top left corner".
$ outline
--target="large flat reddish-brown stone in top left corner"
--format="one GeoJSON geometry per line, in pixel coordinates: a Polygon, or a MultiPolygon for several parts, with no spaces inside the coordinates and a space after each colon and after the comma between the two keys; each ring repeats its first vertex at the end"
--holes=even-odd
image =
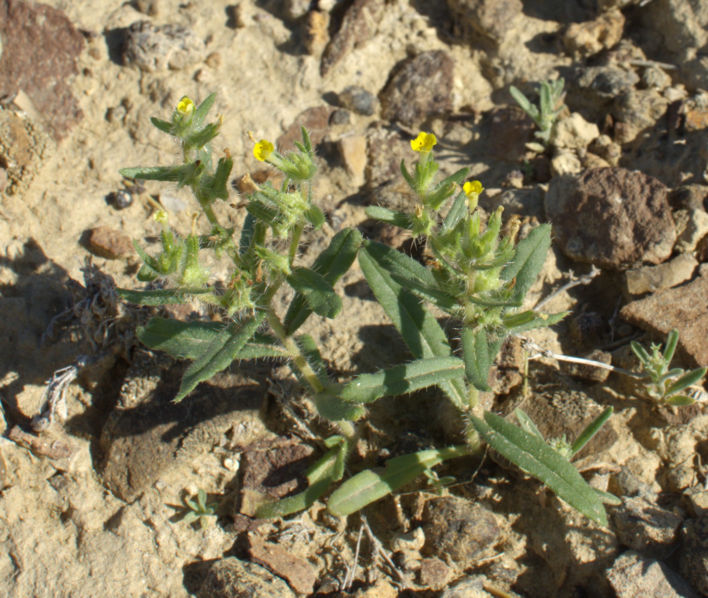
{"type": "Polygon", "coordinates": [[[84,117],[70,89],[84,36],[62,11],[1,0],[0,40],[0,98],[23,91],[42,116],[42,125],[62,140],[84,117]]]}

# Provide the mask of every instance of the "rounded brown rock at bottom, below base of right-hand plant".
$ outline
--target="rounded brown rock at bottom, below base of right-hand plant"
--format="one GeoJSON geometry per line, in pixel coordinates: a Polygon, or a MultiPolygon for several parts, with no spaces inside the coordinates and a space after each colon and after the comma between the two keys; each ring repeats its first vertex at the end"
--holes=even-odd
{"type": "Polygon", "coordinates": [[[452,558],[460,568],[471,567],[491,553],[501,534],[491,511],[455,496],[426,502],[423,521],[426,544],[422,553],[452,558]]]}

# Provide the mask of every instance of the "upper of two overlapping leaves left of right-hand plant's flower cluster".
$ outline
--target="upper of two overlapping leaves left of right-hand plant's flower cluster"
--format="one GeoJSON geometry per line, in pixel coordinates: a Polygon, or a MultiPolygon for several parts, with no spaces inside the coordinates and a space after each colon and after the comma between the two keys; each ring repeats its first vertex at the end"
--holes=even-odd
{"type": "Polygon", "coordinates": [[[430,301],[445,312],[455,312],[457,301],[450,293],[438,288],[435,276],[413,258],[403,254],[388,245],[367,241],[365,250],[371,259],[377,261],[401,286],[407,288],[423,299],[430,301]]]}

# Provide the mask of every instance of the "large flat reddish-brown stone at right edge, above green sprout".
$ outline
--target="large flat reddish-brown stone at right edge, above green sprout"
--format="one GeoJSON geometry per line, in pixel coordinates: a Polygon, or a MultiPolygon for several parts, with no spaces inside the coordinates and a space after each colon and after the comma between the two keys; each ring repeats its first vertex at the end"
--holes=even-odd
{"type": "Polygon", "coordinates": [[[619,315],[634,326],[654,334],[661,342],[677,328],[678,356],[691,368],[708,363],[708,264],[702,264],[690,283],[659,290],[644,299],[632,301],[619,315]]]}

